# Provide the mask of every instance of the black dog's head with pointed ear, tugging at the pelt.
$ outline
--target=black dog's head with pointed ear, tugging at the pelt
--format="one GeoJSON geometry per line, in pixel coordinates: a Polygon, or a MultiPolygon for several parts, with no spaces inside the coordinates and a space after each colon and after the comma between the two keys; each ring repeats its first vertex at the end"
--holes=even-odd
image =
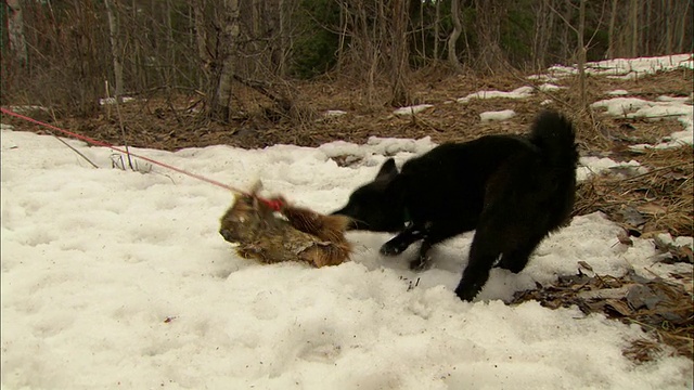
{"type": "Polygon", "coordinates": [[[398,168],[393,158],[386,160],[376,178],[350,196],[349,202],[333,214],[349,217],[350,230],[397,232],[404,224],[403,194],[398,188],[398,168]]]}

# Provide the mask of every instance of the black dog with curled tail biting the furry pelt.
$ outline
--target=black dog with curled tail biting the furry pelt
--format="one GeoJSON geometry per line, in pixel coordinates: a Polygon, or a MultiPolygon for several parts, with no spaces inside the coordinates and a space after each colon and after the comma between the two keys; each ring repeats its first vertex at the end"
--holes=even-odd
{"type": "Polygon", "coordinates": [[[427,264],[433,245],[476,230],[455,288],[461,299],[472,300],[492,266],[520,272],[538,244],[567,220],[577,160],[571,123],[544,112],[524,136],[442,144],[408,160],[401,172],[388,159],[373,182],[333,213],[350,217],[351,229],[399,232],[381,247],[383,255],[401,253],[421,239],[411,269],[427,264]]]}

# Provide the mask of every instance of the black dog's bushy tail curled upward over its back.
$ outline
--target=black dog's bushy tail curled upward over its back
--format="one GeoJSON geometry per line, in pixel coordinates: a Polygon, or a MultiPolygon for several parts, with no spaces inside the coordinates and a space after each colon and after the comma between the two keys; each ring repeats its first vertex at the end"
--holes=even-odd
{"type": "Polygon", "coordinates": [[[542,150],[551,166],[576,169],[576,132],[563,115],[553,110],[540,113],[532,123],[530,141],[542,150]]]}

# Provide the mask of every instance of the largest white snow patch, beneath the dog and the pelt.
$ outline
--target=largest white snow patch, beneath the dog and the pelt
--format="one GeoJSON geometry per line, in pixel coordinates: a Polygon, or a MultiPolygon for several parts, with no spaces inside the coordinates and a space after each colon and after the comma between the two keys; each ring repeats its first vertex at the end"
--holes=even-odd
{"type": "MultiPolygon", "coordinates": [[[[575,274],[629,268],[652,277],[691,272],[656,263],[652,240],[619,244],[602,214],[578,217],[528,268],[494,269],[475,302],[453,294],[472,233],[434,249],[415,273],[378,255],[389,235],[355,232],[352,261],[312,269],[237,257],[217,233],[227,191],[154,167],[110,169],[112,152],[1,131],[2,389],[691,389],[692,362],[622,356],[637,325],[506,306],[514,291],[575,274]]],[[[229,146],[134,153],[327,212],[394,156],[429,139],[373,138],[318,148],[229,146]],[[331,157],[358,155],[351,167],[331,157]]],[[[592,160],[581,160],[591,166],[592,160]]],[[[604,162],[604,161],[603,161],[604,162]]],[[[673,238],[674,239],[674,238],[673,238]]],[[[680,242],[686,239],[680,239],[680,242]]]]}

